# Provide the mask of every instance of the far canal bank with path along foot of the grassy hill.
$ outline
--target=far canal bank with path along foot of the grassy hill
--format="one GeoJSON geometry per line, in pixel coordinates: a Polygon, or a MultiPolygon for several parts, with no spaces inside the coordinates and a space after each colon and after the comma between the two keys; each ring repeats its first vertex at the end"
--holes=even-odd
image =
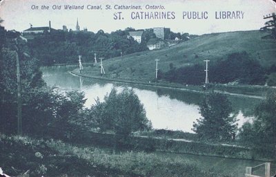
{"type": "Polygon", "coordinates": [[[271,90],[275,90],[276,88],[269,87],[269,86],[249,86],[249,85],[226,85],[226,84],[210,84],[208,89],[204,89],[203,86],[193,86],[193,85],[183,85],[177,83],[170,83],[170,82],[154,82],[150,80],[129,80],[126,78],[116,78],[111,77],[110,75],[99,75],[99,73],[93,71],[94,67],[84,68],[81,73],[79,73],[78,69],[70,71],[72,75],[77,75],[81,77],[87,77],[95,80],[103,80],[107,82],[114,82],[114,83],[122,83],[122,84],[132,84],[132,85],[139,85],[139,86],[149,86],[155,88],[169,88],[175,89],[179,91],[189,91],[194,93],[210,93],[210,92],[217,92],[223,93],[226,95],[232,95],[237,97],[250,97],[255,99],[264,100],[266,97],[266,93],[271,90]]]}

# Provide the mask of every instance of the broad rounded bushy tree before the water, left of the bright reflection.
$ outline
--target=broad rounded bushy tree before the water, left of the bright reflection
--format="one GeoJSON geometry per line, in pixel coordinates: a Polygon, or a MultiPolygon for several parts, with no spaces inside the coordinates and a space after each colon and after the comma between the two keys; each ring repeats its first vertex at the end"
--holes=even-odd
{"type": "Polygon", "coordinates": [[[117,93],[115,88],[104,98],[105,102],[94,106],[98,113],[97,121],[101,128],[111,129],[115,133],[127,137],[133,131],[149,129],[150,121],[146,118],[146,111],[138,96],[132,89],[124,88],[117,93]]]}

